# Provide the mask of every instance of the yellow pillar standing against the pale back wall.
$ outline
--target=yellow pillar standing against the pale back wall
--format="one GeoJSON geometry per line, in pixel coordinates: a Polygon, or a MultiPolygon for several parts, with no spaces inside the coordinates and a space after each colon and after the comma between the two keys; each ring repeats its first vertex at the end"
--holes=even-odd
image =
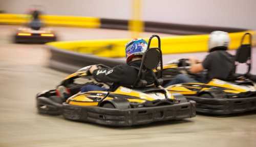
{"type": "Polygon", "coordinates": [[[144,24],[141,17],[141,0],[132,0],[132,19],[129,21],[129,30],[132,38],[139,38],[140,32],[144,31],[144,24]]]}

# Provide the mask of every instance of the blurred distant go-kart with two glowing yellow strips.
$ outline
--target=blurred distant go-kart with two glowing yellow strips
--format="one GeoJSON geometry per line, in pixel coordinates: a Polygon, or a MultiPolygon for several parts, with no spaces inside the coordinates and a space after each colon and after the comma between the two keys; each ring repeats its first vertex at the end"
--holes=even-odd
{"type": "Polygon", "coordinates": [[[56,34],[50,29],[33,30],[30,27],[18,28],[14,37],[15,43],[47,43],[56,39],[56,34]]]}

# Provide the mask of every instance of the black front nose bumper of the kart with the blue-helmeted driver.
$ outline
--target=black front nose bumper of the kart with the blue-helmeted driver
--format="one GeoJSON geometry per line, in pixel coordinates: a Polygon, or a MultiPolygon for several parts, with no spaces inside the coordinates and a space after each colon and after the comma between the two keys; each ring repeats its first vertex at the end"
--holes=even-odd
{"type": "Polygon", "coordinates": [[[62,100],[57,96],[37,98],[37,110],[41,114],[60,115],[62,113],[61,105],[62,100]]]}

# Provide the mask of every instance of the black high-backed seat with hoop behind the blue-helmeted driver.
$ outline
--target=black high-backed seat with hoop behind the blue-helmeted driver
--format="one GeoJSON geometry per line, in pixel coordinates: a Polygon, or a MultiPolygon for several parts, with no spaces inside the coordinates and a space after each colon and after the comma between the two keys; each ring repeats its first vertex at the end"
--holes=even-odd
{"type": "Polygon", "coordinates": [[[138,76],[136,81],[134,82],[133,87],[140,88],[140,87],[145,87],[145,86],[160,86],[163,82],[162,79],[162,69],[163,69],[163,60],[162,60],[162,51],[161,51],[161,42],[160,42],[160,37],[157,35],[153,35],[150,40],[148,41],[148,46],[147,49],[142,56],[142,61],[141,65],[139,68],[138,76]],[[157,37],[158,39],[158,47],[150,48],[151,40],[157,37]],[[161,70],[156,76],[154,73],[154,69],[157,71],[159,70],[157,67],[160,63],[161,70]],[[150,71],[152,73],[152,76],[154,77],[154,83],[148,83],[146,80],[144,80],[145,74],[150,71]]]}

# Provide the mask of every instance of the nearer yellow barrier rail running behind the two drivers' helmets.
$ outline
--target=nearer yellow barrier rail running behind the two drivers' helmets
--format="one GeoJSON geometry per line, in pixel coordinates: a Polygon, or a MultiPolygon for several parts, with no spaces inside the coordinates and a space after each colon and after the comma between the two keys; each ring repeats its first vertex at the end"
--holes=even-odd
{"type": "MultiPolygon", "coordinates": [[[[240,46],[241,38],[245,33],[251,33],[252,35],[256,34],[255,31],[229,33],[231,39],[229,49],[237,49],[240,46]]],[[[208,35],[163,37],[161,38],[162,52],[163,54],[205,52],[208,50],[208,37],[208,35]]],[[[60,41],[47,43],[47,45],[79,53],[94,54],[102,57],[124,57],[124,46],[128,41],[130,40],[115,39],[60,41]]],[[[248,43],[248,38],[245,39],[244,43],[248,43]]],[[[157,46],[157,42],[153,40],[152,45],[157,46]]],[[[255,40],[253,41],[253,45],[256,45],[255,40]]]]}

